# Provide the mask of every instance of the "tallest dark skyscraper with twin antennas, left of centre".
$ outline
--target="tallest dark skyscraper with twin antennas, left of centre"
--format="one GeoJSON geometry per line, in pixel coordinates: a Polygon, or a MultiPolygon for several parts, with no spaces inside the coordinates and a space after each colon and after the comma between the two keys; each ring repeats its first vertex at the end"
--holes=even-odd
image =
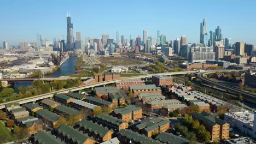
{"type": "Polygon", "coordinates": [[[73,23],[71,23],[70,12],[67,14],[67,50],[74,48],[73,23]]]}

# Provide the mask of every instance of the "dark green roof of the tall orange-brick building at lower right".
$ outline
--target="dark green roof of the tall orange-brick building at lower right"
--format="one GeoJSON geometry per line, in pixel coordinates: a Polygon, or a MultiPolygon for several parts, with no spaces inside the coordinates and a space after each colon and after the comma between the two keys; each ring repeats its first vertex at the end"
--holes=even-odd
{"type": "Polygon", "coordinates": [[[226,122],[222,121],[222,119],[214,117],[214,116],[210,115],[210,113],[207,113],[207,112],[202,112],[201,114],[194,112],[192,114],[192,116],[193,116],[193,118],[199,119],[199,121],[206,123],[208,125],[211,125],[211,126],[214,126],[216,124],[223,125],[226,123],[226,122]]]}

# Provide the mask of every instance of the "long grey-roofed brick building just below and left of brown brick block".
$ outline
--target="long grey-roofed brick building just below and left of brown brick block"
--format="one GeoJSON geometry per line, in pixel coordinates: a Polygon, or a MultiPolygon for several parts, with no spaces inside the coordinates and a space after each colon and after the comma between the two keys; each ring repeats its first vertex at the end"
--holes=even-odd
{"type": "Polygon", "coordinates": [[[140,85],[140,86],[130,86],[129,91],[133,93],[133,97],[136,97],[139,93],[162,93],[160,87],[155,85],[140,85]]]}

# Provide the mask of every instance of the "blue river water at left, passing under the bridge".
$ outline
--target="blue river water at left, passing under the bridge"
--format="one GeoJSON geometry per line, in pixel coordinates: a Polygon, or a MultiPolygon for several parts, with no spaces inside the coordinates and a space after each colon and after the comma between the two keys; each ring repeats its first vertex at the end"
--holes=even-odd
{"type": "MultiPolygon", "coordinates": [[[[60,77],[60,76],[69,76],[69,74],[75,73],[75,63],[77,63],[77,57],[69,57],[69,59],[61,65],[59,69],[57,69],[53,74],[44,75],[44,77],[60,77]]],[[[11,85],[11,88],[14,88],[14,92],[18,92],[18,87],[24,86],[31,86],[32,82],[15,82],[11,85]]],[[[10,88],[9,87],[9,88],[10,88]]],[[[3,88],[0,88],[2,91],[3,88]]]]}

